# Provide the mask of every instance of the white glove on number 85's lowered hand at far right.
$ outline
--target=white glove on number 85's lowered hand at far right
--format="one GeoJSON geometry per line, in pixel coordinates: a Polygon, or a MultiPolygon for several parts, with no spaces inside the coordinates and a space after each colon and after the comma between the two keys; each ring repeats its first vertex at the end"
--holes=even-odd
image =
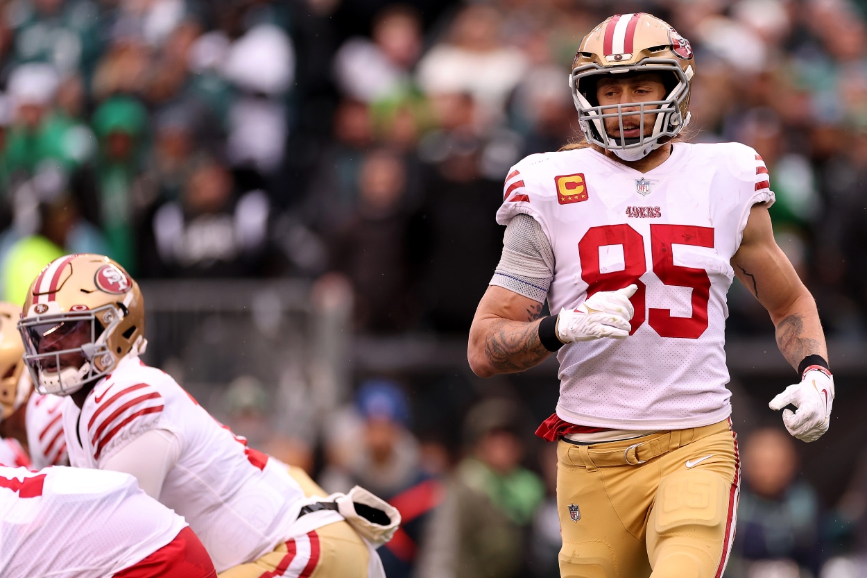
{"type": "Polygon", "coordinates": [[[831,424],[831,404],[834,402],[834,378],[822,371],[804,374],[801,383],[789,385],[771,400],[772,410],[782,410],[792,404],[798,411],[783,410],[783,423],[792,436],[805,442],[815,442],[831,424]]]}

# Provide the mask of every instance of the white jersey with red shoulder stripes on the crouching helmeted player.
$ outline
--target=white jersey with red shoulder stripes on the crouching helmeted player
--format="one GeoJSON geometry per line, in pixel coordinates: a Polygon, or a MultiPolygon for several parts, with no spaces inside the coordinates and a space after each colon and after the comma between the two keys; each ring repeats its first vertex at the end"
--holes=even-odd
{"type": "Polygon", "coordinates": [[[164,371],[122,358],[85,399],[63,410],[72,465],[101,468],[149,430],[178,437],[179,457],[160,502],[184,516],[218,572],[251,562],[291,537],[303,490],[280,463],[246,446],[164,371]]]}

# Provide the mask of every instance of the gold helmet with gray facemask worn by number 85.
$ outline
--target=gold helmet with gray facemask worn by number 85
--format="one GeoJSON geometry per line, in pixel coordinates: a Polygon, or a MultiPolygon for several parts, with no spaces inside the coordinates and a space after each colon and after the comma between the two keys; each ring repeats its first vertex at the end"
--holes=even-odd
{"type": "Polygon", "coordinates": [[[671,25],[642,12],[610,16],[584,36],[572,62],[569,86],[584,136],[625,161],[642,159],[687,126],[694,75],[693,49],[671,25]],[[596,82],[601,76],[642,72],[662,75],[664,100],[599,106],[596,82]],[[653,131],[646,134],[644,115],[651,110],[656,120],[653,131]],[[623,135],[623,118],[629,116],[640,119],[640,136],[615,137],[606,132],[605,119],[616,118],[623,135]]]}

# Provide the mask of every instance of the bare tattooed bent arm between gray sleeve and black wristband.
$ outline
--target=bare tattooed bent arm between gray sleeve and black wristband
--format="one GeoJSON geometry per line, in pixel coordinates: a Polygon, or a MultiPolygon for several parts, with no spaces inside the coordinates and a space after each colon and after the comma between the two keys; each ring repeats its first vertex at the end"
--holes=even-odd
{"type": "Polygon", "coordinates": [[[542,304],[499,286],[488,286],[470,327],[466,357],[482,378],[524,371],[551,355],[539,342],[542,304]]]}

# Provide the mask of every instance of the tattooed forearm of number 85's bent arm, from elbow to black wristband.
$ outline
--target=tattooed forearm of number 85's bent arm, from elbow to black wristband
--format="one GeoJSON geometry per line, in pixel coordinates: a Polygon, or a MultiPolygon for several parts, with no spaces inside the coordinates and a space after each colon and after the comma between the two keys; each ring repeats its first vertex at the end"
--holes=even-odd
{"type": "MultiPolygon", "coordinates": [[[[541,308],[541,305],[540,305],[541,308]]],[[[524,371],[548,357],[551,351],[539,341],[538,324],[500,321],[485,339],[485,354],[498,371],[524,371]]]]}

